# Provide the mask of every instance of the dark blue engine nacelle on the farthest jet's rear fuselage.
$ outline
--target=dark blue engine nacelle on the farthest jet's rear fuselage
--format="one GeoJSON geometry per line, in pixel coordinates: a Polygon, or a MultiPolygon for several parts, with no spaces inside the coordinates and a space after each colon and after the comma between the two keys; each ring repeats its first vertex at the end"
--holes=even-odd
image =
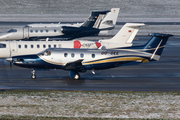
{"type": "Polygon", "coordinates": [[[69,27],[69,26],[62,26],[61,32],[64,34],[72,34],[72,33],[78,33],[81,32],[81,28],[79,27],[69,27]]]}

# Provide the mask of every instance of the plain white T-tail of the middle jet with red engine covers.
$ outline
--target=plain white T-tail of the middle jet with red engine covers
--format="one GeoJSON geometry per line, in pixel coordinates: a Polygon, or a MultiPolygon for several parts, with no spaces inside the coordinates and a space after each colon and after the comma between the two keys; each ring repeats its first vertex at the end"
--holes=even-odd
{"type": "Polygon", "coordinates": [[[124,44],[132,45],[132,41],[141,26],[145,26],[145,24],[126,23],[113,38],[109,40],[100,40],[99,42],[116,43],[116,47],[123,47],[124,44]]]}

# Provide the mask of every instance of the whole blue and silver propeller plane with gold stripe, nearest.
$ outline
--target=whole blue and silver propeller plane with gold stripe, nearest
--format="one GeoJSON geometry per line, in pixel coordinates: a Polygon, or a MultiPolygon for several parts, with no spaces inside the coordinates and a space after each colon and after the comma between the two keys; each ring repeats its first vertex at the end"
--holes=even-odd
{"type": "Polygon", "coordinates": [[[32,79],[36,78],[35,69],[63,69],[70,77],[80,79],[79,72],[103,70],[123,65],[158,61],[169,34],[150,34],[152,38],[142,46],[119,49],[63,49],[51,48],[39,54],[7,58],[14,65],[32,68],[32,79]]]}

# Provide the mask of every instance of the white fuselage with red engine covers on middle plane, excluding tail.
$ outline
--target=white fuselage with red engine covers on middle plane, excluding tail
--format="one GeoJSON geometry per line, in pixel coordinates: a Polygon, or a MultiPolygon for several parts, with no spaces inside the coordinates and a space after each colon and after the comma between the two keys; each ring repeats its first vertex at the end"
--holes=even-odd
{"type": "Polygon", "coordinates": [[[4,41],[0,42],[0,58],[37,54],[47,48],[97,49],[101,44],[95,41],[4,41]]]}

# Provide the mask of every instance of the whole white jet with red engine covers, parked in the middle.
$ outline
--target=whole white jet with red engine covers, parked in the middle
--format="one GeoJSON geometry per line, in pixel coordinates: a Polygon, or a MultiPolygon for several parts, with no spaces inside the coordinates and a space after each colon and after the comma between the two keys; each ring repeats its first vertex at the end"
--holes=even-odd
{"type": "Polygon", "coordinates": [[[143,23],[126,23],[111,39],[99,41],[2,41],[0,42],[0,58],[18,55],[37,54],[47,48],[111,49],[132,46],[132,41],[143,23]]]}

